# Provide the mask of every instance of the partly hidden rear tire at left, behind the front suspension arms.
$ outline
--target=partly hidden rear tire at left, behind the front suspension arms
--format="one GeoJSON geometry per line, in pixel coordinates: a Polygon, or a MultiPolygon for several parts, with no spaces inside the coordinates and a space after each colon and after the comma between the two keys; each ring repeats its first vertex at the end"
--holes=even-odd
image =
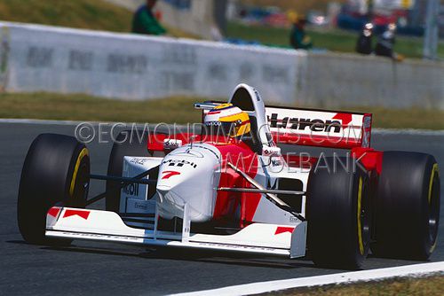
{"type": "MultiPolygon", "coordinates": [[[[149,157],[147,132],[124,130],[115,138],[115,144],[108,160],[107,175],[122,176],[123,158],[125,156],[149,157]]],[[[121,183],[107,181],[106,208],[107,211],[119,213],[121,183]]]]}

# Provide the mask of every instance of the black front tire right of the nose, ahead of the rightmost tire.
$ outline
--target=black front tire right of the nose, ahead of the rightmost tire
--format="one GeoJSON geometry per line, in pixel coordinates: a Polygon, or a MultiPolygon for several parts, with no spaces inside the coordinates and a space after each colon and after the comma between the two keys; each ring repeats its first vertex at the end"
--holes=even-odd
{"type": "Polygon", "coordinates": [[[351,158],[323,158],[312,169],[306,194],[307,248],[316,266],[362,268],[370,243],[369,187],[369,174],[351,158]]]}

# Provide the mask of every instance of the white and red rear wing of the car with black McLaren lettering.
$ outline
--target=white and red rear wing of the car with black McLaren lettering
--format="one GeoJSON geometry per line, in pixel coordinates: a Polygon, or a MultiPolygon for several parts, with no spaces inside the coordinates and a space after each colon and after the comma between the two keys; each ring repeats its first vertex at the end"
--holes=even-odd
{"type": "Polygon", "coordinates": [[[276,144],[341,149],[370,146],[371,113],[266,106],[266,120],[276,144]]]}

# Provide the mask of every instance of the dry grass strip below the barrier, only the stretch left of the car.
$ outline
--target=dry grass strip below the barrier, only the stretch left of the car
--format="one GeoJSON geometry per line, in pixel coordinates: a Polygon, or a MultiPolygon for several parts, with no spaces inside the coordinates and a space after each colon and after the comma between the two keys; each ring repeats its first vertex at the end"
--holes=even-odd
{"type": "Polygon", "coordinates": [[[1,94],[0,118],[186,123],[201,120],[193,98],[123,101],[82,94],[1,94]]]}

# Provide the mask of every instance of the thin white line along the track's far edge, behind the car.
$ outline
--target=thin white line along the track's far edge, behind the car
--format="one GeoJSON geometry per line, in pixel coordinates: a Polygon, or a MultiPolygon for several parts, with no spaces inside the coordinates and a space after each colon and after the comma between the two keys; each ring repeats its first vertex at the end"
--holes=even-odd
{"type": "MultiPolygon", "coordinates": [[[[47,121],[47,120],[33,120],[33,119],[2,119],[0,123],[16,123],[16,124],[44,124],[44,125],[70,125],[75,126],[79,123],[91,122],[99,124],[100,121],[47,121]]],[[[113,124],[116,122],[107,122],[113,124]]],[[[118,122],[125,123],[125,122],[118,122]]],[[[128,123],[130,124],[130,123],[128,123]]],[[[143,123],[142,123],[143,124],[143,123]]],[[[178,125],[183,126],[183,125],[178,125]]],[[[372,133],[377,135],[417,135],[417,136],[444,136],[444,130],[432,129],[372,129],[372,133]]]]}

